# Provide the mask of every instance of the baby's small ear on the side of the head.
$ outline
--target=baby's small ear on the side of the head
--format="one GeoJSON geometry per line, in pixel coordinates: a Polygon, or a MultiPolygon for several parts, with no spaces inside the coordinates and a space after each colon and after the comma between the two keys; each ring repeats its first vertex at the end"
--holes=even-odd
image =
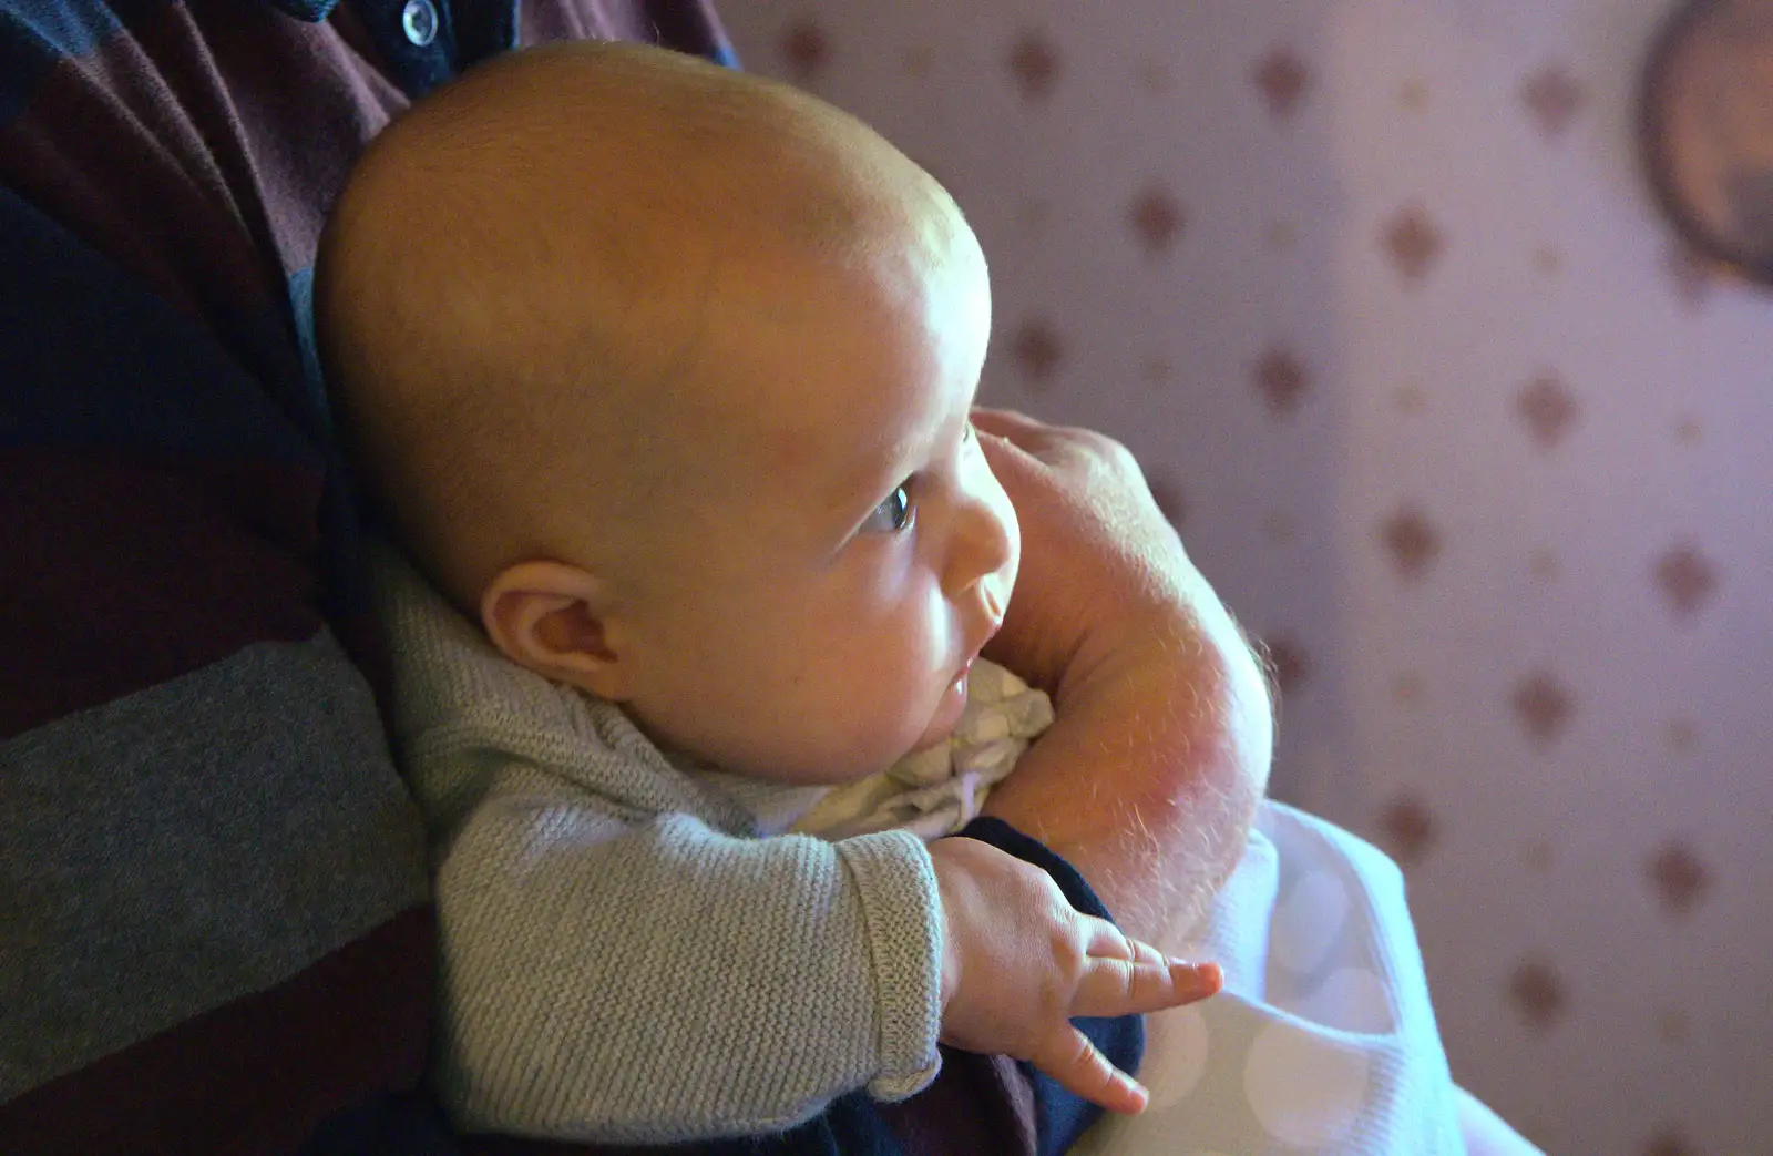
{"type": "Polygon", "coordinates": [[[505,658],[621,702],[628,672],[610,645],[608,612],[608,587],[564,562],[509,566],[480,596],[480,626],[505,658]]]}

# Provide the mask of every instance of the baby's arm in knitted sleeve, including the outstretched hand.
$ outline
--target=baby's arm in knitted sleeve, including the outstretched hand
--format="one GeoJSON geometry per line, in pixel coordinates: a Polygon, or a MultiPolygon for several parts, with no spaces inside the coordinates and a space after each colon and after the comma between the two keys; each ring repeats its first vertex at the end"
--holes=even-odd
{"type": "Polygon", "coordinates": [[[920,1090],[936,1035],[1106,1108],[1144,1092],[1067,1023],[1204,998],[984,842],[734,839],[495,778],[438,872],[438,1085],[473,1129],[596,1142],[775,1131],[920,1090]]]}

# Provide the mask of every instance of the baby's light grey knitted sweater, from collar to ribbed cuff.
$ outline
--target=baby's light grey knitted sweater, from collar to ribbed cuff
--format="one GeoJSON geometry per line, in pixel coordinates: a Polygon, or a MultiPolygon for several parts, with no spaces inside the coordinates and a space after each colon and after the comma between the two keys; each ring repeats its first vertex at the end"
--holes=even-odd
{"type": "Polygon", "coordinates": [[[732,777],[507,661],[387,551],[378,571],[457,1124],[660,1144],[929,1083],[941,917],[917,835],[761,839],[732,777]]]}

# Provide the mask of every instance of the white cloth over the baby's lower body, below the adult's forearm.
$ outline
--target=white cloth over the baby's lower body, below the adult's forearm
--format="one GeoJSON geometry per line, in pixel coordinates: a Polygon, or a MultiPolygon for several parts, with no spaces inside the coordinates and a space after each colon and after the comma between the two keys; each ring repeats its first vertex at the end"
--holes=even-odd
{"type": "Polygon", "coordinates": [[[1073,1156],[1464,1152],[1402,874],[1264,803],[1204,929],[1163,943],[1225,968],[1218,996],[1145,1018],[1151,1106],[1073,1156]]]}

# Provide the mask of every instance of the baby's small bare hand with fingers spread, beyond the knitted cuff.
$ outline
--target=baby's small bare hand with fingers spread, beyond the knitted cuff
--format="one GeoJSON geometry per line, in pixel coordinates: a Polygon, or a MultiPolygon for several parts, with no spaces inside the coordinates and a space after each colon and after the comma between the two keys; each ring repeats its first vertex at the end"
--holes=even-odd
{"type": "Polygon", "coordinates": [[[1110,1112],[1149,1094],[1067,1023],[1193,1004],[1220,989],[1216,965],[1167,959],[1080,913],[1044,871],[977,839],[929,844],[945,922],[941,1043],[1028,1060],[1110,1112]]]}

